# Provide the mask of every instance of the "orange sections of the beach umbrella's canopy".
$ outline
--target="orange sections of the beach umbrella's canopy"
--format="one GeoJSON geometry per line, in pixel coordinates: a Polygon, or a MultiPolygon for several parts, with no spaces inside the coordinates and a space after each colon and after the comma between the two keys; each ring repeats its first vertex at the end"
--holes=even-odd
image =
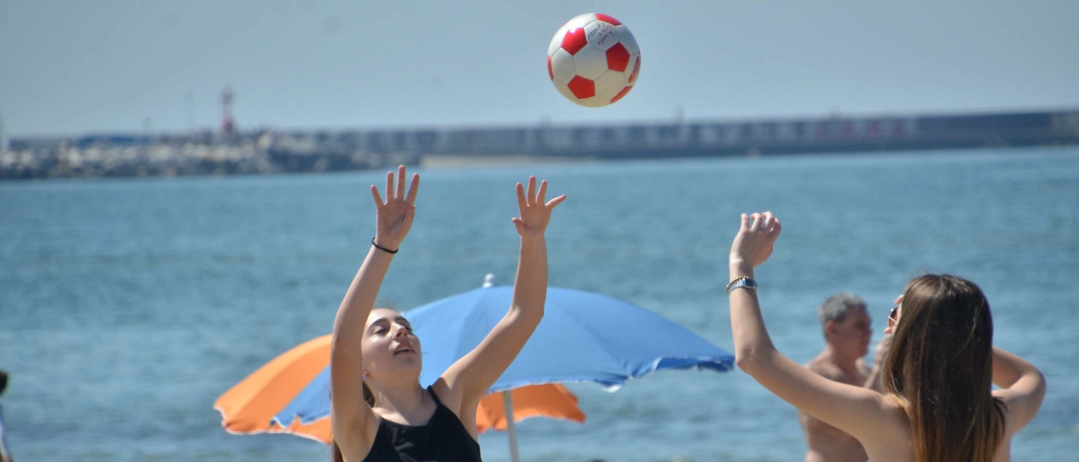
{"type": "MultiPolygon", "coordinates": [[[[330,340],[323,336],[301,343],[270,361],[246,379],[218,397],[214,408],[221,412],[221,426],[229,433],[291,433],[329,444],[330,420],[327,413],[319,419],[302,421],[292,419],[281,422],[274,416],[293,403],[305,403],[303,392],[309,384],[325,380],[329,402],[330,340]]],[[[308,398],[323,396],[308,393],[308,398]]],[[[577,407],[577,397],[561,385],[525,386],[513,391],[514,420],[531,417],[585,421],[585,413],[577,407]]],[[[328,407],[327,407],[328,409],[328,407]]],[[[477,429],[506,430],[503,396],[493,394],[480,400],[476,412],[477,429]]]]}

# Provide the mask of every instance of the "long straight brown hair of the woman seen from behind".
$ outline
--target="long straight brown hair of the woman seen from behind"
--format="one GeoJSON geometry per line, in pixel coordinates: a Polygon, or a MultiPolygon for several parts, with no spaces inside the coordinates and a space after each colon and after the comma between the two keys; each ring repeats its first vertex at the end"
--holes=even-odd
{"type": "Polygon", "coordinates": [[[992,462],[1006,412],[991,394],[993,316],[982,289],[948,274],[911,281],[882,382],[906,409],[916,462],[992,462]]]}

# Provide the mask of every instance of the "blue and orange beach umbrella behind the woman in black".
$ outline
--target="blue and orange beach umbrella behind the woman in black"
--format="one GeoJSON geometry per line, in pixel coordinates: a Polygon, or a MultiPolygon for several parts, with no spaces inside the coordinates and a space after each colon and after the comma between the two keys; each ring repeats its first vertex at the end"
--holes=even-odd
{"type": "MultiPolygon", "coordinates": [[[[505,316],[513,291],[488,274],[478,289],[405,313],[423,339],[421,385],[434,383],[488,336],[505,316]]],[[[222,395],[216,407],[224,427],[328,440],[329,343],[325,336],[301,344],[222,395]]],[[[488,390],[491,394],[480,402],[477,423],[481,432],[506,429],[510,460],[516,462],[514,421],[535,416],[584,421],[576,396],[560,383],[592,382],[614,391],[661,369],[726,372],[733,368],[730,353],[641,307],[602,294],[548,287],[543,322],[488,390]],[[502,416],[500,402],[515,419],[502,416]]]]}

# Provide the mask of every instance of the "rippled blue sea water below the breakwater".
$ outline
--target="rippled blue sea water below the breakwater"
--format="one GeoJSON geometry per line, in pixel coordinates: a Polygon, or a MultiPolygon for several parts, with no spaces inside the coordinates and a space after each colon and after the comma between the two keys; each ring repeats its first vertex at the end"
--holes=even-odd
{"type": "MultiPolygon", "coordinates": [[[[548,229],[551,285],[656,311],[730,349],[722,285],[738,214],[783,220],[759,270],[779,349],[823,345],[815,307],[849,290],[876,331],[921,271],[982,285],[997,344],[1049,379],[1015,460],[1079,447],[1079,149],[644,161],[423,172],[382,296],[400,309],[511,281],[513,185],[570,200],[548,229]]],[[[18,460],[324,460],[287,435],[234,436],[210,406],[330,330],[373,232],[383,173],[0,184],[0,368],[18,460]]],[[[792,407],[739,371],[666,371],[617,393],[574,384],[584,425],[520,424],[525,460],[791,461],[792,407]]],[[[488,460],[506,436],[480,437],[488,460]]]]}

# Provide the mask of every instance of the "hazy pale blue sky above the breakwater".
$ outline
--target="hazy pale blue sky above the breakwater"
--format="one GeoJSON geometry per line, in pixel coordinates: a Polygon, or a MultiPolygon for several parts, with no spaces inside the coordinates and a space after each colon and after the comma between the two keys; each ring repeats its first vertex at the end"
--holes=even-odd
{"type": "Polygon", "coordinates": [[[1079,107],[1079,2],[0,0],[14,136],[216,126],[386,127],[1079,107]],[[610,14],[641,76],[566,101],[555,30],[610,14]]]}

